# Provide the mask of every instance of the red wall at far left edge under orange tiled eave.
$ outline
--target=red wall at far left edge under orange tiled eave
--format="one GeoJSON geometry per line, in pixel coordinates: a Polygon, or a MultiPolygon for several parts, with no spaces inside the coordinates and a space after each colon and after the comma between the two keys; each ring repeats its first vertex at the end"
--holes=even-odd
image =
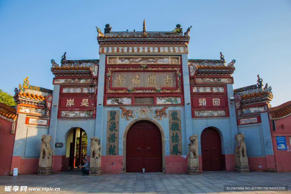
{"type": "Polygon", "coordinates": [[[14,134],[10,133],[12,122],[0,118],[0,123],[0,176],[9,176],[14,146],[14,134]]]}

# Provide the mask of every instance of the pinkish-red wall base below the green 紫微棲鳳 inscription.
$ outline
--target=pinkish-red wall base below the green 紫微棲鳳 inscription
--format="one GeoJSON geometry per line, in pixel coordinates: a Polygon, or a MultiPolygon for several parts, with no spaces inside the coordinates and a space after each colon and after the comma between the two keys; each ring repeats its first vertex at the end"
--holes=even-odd
{"type": "Polygon", "coordinates": [[[188,156],[166,156],[166,173],[187,173],[188,156]]]}

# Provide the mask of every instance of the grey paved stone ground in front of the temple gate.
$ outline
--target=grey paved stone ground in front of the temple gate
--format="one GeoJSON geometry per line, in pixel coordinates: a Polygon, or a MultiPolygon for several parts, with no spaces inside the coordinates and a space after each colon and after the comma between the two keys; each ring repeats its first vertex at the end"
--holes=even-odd
{"type": "MultiPolygon", "coordinates": [[[[223,186],[270,186],[285,185],[291,189],[291,172],[204,172],[200,175],[163,174],[101,174],[100,176],[81,176],[81,174],[53,174],[47,176],[19,175],[0,176],[0,194],[5,186],[28,186],[26,192],[19,193],[147,193],[147,194],[283,194],[291,191],[233,191],[223,190],[223,186]],[[60,191],[29,191],[31,187],[54,187],[60,191]]],[[[12,187],[13,188],[13,187],[12,187]]],[[[20,190],[20,187],[19,187],[20,190]]]]}

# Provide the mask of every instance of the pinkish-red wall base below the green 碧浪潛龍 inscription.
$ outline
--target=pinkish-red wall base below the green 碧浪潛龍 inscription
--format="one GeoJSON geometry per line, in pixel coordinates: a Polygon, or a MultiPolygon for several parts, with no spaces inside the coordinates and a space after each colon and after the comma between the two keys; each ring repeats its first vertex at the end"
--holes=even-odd
{"type": "Polygon", "coordinates": [[[121,174],[122,156],[101,156],[101,170],[102,173],[121,174]]]}

